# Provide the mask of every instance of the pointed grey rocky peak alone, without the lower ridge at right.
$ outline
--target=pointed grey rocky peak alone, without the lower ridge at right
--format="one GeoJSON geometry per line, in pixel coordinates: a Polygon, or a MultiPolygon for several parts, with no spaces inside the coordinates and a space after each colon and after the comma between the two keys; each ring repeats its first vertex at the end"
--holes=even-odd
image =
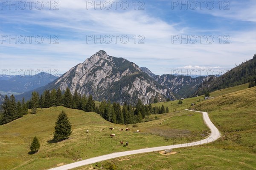
{"type": "Polygon", "coordinates": [[[148,104],[154,98],[158,101],[175,98],[171,90],[158,84],[135,63],[109,56],[103,50],[71,68],[48,87],[59,87],[62,91],[69,87],[72,93],[77,89],[81,95],[93,95],[94,100],[121,104],[134,104],[138,99],[148,104]]]}

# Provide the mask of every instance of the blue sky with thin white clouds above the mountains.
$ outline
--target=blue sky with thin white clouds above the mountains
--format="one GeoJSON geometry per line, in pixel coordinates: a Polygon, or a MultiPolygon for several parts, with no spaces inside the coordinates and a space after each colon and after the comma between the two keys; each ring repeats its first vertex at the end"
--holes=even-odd
{"type": "Polygon", "coordinates": [[[1,74],[61,74],[101,49],[157,75],[223,74],[256,53],[255,0],[0,2],[1,74]]]}

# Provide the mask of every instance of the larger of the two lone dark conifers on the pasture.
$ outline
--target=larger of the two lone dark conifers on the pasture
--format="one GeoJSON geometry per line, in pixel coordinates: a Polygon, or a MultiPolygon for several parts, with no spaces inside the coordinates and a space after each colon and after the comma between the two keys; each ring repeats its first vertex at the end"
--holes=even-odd
{"type": "Polygon", "coordinates": [[[61,141],[68,138],[71,131],[71,124],[68,120],[67,114],[62,110],[62,112],[58,115],[58,119],[55,123],[55,132],[53,133],[53,138],[56,141],[61,141]]]}

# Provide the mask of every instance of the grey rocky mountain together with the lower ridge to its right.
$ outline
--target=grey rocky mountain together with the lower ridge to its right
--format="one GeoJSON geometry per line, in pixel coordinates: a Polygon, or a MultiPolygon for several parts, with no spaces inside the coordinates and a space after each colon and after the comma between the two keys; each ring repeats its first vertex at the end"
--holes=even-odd
{"type": "MultiPolygon", "coordinates": [[[[67,87],[72,93],[93,95],[94,100],[115,101],[121,104],[135,104],[141,99],[144,104],[174,100],[195,92],[206,77],[191,78],[182,75],[154,75],[149,69],[139,67],[125,58],[116,58],[100,50],[83,63],[72,67],[46,86],[34,89],[42,93],[45,89],[64,91],[67,87]]],[[[17,99],[30,98],[32,91],[17,95],[17,99]]]]}

